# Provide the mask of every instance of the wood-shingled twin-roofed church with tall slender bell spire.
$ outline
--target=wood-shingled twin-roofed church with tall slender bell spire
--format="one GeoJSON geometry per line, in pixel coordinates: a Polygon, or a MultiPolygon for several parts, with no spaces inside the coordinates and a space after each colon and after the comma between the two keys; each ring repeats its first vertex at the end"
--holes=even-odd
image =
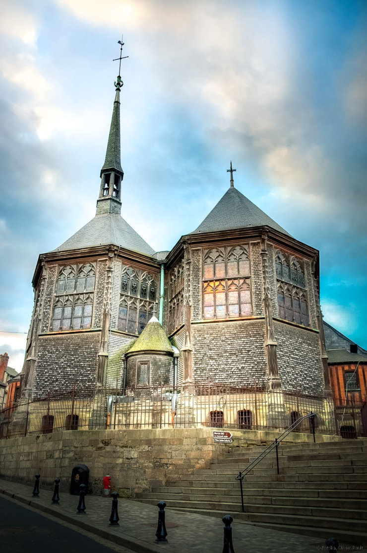
{"type": "Polygon", "coordinates": [[[232,164],[225,195],[169,252],[121,217],[122,85],[119,76],[95,216],[36,265],[22,397],[158,376],[328,392],[318,251],[235,188],[232,164]]]}

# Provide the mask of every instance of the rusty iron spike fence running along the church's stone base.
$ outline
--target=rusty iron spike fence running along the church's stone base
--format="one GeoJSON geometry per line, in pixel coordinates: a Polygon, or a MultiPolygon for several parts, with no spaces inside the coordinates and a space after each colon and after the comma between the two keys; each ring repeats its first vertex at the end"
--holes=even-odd
{"type": "MultiPolygon", "coordinates": [[[[315,432],[367,436],[366,398],[335,406],[330,398],[258,387],[195,384],[189,388],[73,388],[0,411],[0,437],[61,430],[214,427],[285,430],[317,413],[315,432]]],[[[309,419],[294,431],[312,432],[309,419]]]]}

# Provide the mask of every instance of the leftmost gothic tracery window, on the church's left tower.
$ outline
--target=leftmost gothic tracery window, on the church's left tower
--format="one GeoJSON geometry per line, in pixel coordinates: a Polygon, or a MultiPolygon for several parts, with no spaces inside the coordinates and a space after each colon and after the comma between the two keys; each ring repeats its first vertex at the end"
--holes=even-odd
{"type": "Polygon", "coordinates": [[[91,328],[95,264],[67,265],[58,273],[52,331],[91,328]]]}

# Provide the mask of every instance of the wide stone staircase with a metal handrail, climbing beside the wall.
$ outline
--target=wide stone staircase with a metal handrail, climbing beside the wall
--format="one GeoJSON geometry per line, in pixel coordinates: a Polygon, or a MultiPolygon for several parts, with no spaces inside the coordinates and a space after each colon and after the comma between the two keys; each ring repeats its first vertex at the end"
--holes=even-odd
{"type": "MultiPolygon", "coordinates": [[[[240,483],[236,474],[262,447],[232,447],[207,469],[179,474],[164,487],[136,494],[136,499],[201,514],[231,514],[238,521],[300,534],[336,535],[348,543],[367,545],[367,439],[283,443],[280,474],[275,450],[240,483]]],[[[185,471],[186,472],[186,471],[185,471]]]]}

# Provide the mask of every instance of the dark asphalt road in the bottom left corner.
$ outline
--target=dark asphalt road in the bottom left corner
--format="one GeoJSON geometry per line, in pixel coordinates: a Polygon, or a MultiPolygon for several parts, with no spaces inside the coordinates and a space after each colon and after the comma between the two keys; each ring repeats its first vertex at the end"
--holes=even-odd
{"type": "Polygon", "coordinates": [[[131,553],[86,531],[73,530],[31,507],[0,497],[0,550],[2,553],[131,553]]]}

